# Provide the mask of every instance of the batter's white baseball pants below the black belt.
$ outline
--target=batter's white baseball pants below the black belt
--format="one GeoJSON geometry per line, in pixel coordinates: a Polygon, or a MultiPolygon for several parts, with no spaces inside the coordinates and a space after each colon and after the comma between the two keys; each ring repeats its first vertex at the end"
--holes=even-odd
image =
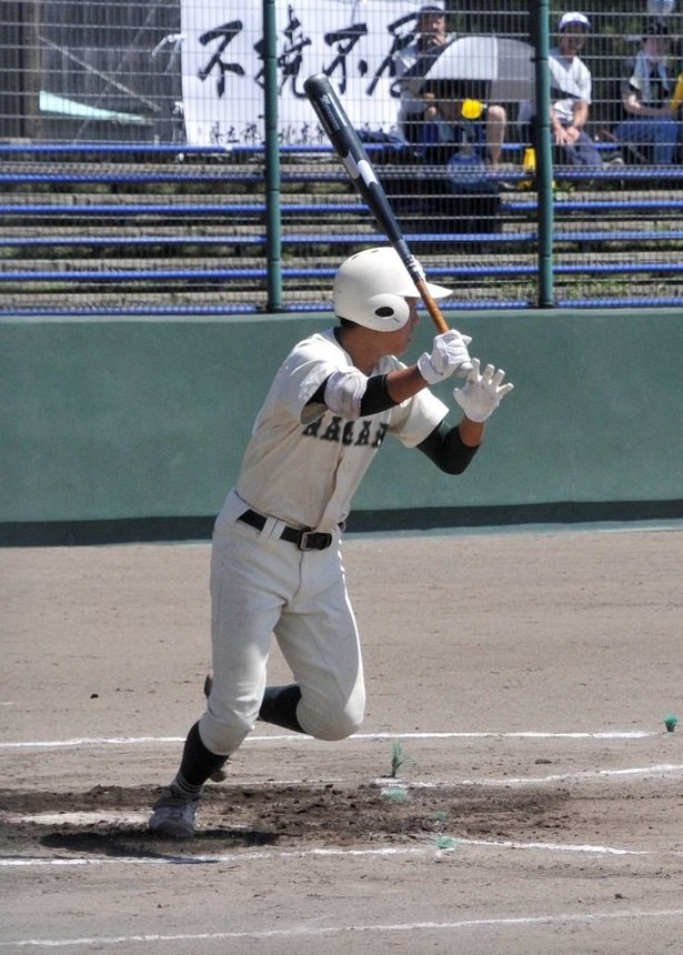
{"type": "Polygon", "coordinates": [[[213,532],[213,687],[201,740],[230,755],[253,728],[273,634],[301,688],[301,727],[342,740],[362,723],[365,687],[340,533],[324,551],[300,551],[280,540],[281,521],[268,519],[262,531],[238,521],[248,506],[232,491],[213,532]]]}

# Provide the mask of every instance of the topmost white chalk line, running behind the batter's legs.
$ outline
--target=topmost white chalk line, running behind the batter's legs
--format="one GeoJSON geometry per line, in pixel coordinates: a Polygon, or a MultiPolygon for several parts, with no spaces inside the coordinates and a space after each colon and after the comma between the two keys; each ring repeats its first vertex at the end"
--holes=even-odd
{"type": "MultiPolygon", "coordinates": [[[[655,730],[626,730],[603,733],[545,733],[520,731],[510,733],[355,733],[350,740],[373,742],[378,740],[644,740],[650,736],[664,735],[655,730]]],[[[184,736],[81,736],[72,740],[22,741],[19,743],[0,743],[0,750],[56,750],[81,746],[140,746],[165,745],[184,743],[184,736]]],[[[250,743],[320,743],[312,736],[300,734],[280,734],[268,736],[248,736],[244,745],[250,743]]],[[[324,744],[329,745],[329,744],[324,744]]]]}

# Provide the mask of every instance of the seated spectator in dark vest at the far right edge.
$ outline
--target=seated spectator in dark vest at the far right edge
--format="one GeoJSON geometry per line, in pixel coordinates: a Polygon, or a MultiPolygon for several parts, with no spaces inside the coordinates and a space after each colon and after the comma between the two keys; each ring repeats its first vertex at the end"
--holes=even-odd
{"type": "Polygon", "coordinates": [[[669,30],[659,21],[646,23],[642,48],[630,61],[622,83],[622,104],[627,119],[614,130],[625,145],[649,145],[652,161],[671,165],[679,140],[679,123],[671,101],[675,81],[669,73],[669,30]]]}

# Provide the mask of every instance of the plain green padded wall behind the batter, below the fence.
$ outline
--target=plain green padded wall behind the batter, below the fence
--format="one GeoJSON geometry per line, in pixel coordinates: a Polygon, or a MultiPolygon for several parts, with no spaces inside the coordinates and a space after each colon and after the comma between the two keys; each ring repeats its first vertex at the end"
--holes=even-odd
{"type": "MultiPolygon", "coordinates": [[[[683,516],[683,310],[446,318],[515,390],[460,478],[386,440],[351,530],[683,516]]],[[[332,321],[0,320],[0,543],[208,534],[272,374],[332,321]]]]}

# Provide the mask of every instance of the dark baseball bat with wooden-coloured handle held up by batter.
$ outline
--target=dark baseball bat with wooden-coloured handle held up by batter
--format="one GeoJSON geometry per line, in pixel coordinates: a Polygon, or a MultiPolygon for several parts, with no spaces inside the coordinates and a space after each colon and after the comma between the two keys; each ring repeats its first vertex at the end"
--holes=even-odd
{"type": "Polygon", "coordinates": [[[418,263],[408,248],[401,227],[396,222],[396,217],[386,199],[386,193],[375,174],[363,143],[351,125],[339,97],[332,89],[330,80],[324,73],[315,73],[304,81],[303,89],[318,114],[320,124],[328,134],[328,139],[349,173],[355,191],[365,201],[378,225],[399,253],[436,329],[440,332],[448,332],[449,326],[441,309],[430,294],[426,280],[422,277],[418,263]]]}

